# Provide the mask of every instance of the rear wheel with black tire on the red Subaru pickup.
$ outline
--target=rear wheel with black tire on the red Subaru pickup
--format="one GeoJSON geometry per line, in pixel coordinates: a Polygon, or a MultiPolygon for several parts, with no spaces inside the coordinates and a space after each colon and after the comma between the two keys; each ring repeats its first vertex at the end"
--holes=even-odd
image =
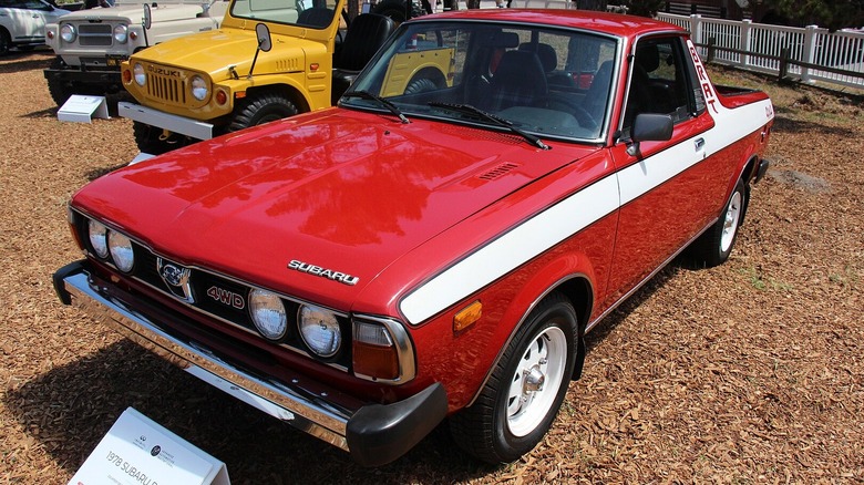
{"type": "Polygon", "coordinates": [[[738,180],[720,218],[696,239],[687,250],[688,262],[697,268],[722,265],[732,254],[738,239],[738,229],[744,218],[750,190],[743,180],[738,180]]]}

